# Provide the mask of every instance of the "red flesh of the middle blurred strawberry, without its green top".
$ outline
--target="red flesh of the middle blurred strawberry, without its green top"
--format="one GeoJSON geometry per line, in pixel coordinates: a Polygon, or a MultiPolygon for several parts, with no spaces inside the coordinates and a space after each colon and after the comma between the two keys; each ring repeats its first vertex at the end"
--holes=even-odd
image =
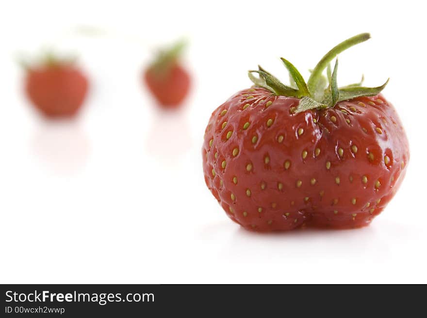
{"type": "Polygon", "coordinates": [[[190,76],[179,64],[172,65],[165,74],[148,68],[144,78],[148,89],[164,108],[179,107],[190,89],[190,76]]]}

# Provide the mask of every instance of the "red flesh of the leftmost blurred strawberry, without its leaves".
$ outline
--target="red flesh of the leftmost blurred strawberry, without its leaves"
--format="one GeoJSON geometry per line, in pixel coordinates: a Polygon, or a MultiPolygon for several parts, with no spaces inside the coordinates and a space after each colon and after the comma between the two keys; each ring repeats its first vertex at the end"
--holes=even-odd
{"type": "Polygon", "coordinates": [[[88,80],[73,65],[45,65],[27,72],[25,89],[33,105],[47,117],[72,117],[83,104],[88,80]]]}

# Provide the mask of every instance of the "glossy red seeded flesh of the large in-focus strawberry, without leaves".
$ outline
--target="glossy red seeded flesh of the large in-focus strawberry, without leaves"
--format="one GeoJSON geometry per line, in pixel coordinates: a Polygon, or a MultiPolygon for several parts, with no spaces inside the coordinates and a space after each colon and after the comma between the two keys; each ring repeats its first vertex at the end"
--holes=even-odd
{"type": "Polygon", "coordinates": [[[207,186],[227,215],[247,229],[368,225],[394,196],[410,157],[408,140],[394,107],[382,95],[294,114],[291,107],[298,104],[297,98],[275,96],[256,88],[240,91],[219,106],[206,128],[202,149],[207,186]],[[268,101],[272,104],[267,107],[268,101]],[[250,106],[243,110],[246,104],[250,106]],[[227,113],[221,116],[224,109],[227,113]],[[331,116],[335,116],[335,123],[331,116]],[[270,127],[268,119],[273,120],[270,127]],[[222,128],[224,121],[227,124],[222,128]],[[250,126],[245,130],[246,122],[250,126]],[[301,135],[299,128],[304,129],[301,135]],[[381,134],[376,128],[381,129],[381,134]],[[229,131],[232,135],[227,140],[229,131]],[[258,136],[255,144],[252,136],[258,136]],[[282,142],[279,136],[283,136],[282,142]],[[352,150],[353,145],[357,152],[352,150]],[[239,153],[233,156],[236,147],[239,153]],[[316,148],[320,149],[318,155],[316,148]],[[339,148],[343,149],[342,156],[339,148]],[[303,151],[307,151],[305,159],[303,151]],[[369,152],[374,155],[373,160],[368,158],[369,152]],[[385,155],[390,158],[388,165],[385,155]],[[269,157],[268,163],[265,156],[269,157]],[[291,164],[285,169],[287,160],[291,164]],[[247,171],[249,163],[252,169],[247,171]],[[362,182],[363,175],[368,178],[367,183],[362,182]],[[237,184],[233,182],[235,176],[237,184]],[[316,180],[314,184],[312,178],[316,180]],[[298,181],[302,182],[299,187],[298,181]],[[375,186],[377,181],[379,188],[375,186]],[[281,190],[279,182],[283,185],[281,190]]]}

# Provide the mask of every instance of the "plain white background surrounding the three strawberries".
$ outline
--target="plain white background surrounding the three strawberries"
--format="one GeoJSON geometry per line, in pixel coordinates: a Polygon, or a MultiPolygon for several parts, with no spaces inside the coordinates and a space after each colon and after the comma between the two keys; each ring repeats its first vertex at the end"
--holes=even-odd
{"type": "Polygon", "coordinates": [[[2,5],[1,283],[427,283],[422,1],[106,2],[2,5]],[[340,55],[339,82],[391,77],[384,95],[411,145],[400,191],[362,229],[239,228],[203,180],[211,112],[251,85],[257,64],[287,80],[283,56],[308,76],[365,31],[371,40],[340,55]],[[141,69],[182,36],[194,85],[183,110],[165,114],[141,69]],[[16,59],[44,47],[78,53],[90,77],[75,121],[44,120],[23,94],[16,59]]]}

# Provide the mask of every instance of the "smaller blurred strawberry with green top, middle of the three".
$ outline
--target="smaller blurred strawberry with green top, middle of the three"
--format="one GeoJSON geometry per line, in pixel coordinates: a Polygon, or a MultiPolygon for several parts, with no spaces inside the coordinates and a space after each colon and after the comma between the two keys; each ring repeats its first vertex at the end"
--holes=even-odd
{"type": "Polygon", "coordinates": [[[164,108],[180,106],[190,89],[190,76],[178,61],[183,46],[180,42],[161,51],[144,73],[148,89],[164,108]]]}

